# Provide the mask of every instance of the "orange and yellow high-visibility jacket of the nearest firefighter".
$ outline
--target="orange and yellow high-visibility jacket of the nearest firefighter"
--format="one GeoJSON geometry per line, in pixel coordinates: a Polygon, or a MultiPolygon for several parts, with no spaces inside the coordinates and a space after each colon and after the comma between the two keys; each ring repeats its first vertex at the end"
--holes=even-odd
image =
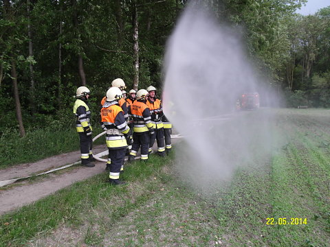
{"type": "Polygon", "coordinates": [[[101,109],[101,125],[107,128],[106,142],[111,149],[126,148],[127,142],[124,134],[129,132],[124,112],[117,101],[105,102],[101,109]]]}

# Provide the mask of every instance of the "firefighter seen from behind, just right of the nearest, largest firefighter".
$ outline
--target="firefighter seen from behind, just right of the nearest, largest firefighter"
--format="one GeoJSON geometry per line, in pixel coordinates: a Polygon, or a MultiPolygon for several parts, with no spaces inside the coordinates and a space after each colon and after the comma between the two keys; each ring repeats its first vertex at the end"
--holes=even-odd
{"type": "Polygon", "coordinates": [[[133,161],[141,147],[141,160],[148,161],[150,135],[154,133],[151,115],[146,105],[148,91],[140,89],[136,93],[136,100],[129,106],[129,114],[133,117],[133,145],[129,153],[129,161],[133,161]]]}

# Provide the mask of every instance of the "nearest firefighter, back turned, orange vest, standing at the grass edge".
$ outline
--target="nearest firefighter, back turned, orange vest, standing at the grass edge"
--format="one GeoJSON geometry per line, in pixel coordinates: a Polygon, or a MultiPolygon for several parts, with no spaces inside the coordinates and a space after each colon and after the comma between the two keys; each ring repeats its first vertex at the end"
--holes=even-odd
{"type": "Polygon", "coordinates": [[[101,126],[107,129],[106,141],[109,149],[109,160],[111,161],[109,178],[113,185],[124,184],[119,177],[127,148],[125,135],[129,133],[124,111],[118,103],[121,98],[122,91],[117,87],[111,87],[107,91],[107,100],[101,109],[101,126]]]}

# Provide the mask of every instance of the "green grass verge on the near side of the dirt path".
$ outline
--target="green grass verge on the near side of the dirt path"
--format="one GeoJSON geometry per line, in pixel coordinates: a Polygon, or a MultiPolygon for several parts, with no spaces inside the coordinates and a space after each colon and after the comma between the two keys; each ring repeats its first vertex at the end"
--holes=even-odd
{"type": "MultiPolygon", "coordinates": [[[[151,174],[157,174],[162,161],[158,157],[151,157],[149,163],[135,162],[126,167],[122,176],[129,183],[148,178],[151,174]]],[[[166,163],[170,161],[166,158],[166,163]]],[[[109,185],[109,175],[104,172],[87,181],[75,183],[71,187],[62,189],[58,193],[39,200],[32,205],[23,207],[18,211],[0,217],[0,246],[22,246],[36,234],[47,233],[52,228],[66,222],[72,226],[83,222],[81,213],[89,215],[98,204],[104,200],[116,198],[120,204],[111,207],[111,220],[126,215],[137,204],[143,203],[151,194],[142,193],[131,202],[125,198],[127,187],[114,187],[109,185]]],[[[112,201],[111,201],[112,202],[112,201]]],[[[88,236],[88,234],[87,234],[88,236]]],[[[88,242],[88,237],[87,237],[88,242]]]]}

